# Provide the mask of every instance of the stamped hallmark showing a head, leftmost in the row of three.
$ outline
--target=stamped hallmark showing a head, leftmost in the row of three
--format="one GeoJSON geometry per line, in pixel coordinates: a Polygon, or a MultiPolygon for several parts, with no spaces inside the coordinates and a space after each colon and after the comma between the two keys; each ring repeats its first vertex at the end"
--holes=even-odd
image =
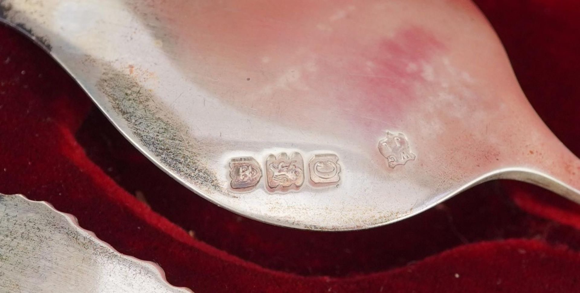
{"type": "Polygon", "coordinates": [[[260,182],[262,168],[252,157],[233,158],[230,160],[230,178],[232,189],[249,189],[260,182]]]}

